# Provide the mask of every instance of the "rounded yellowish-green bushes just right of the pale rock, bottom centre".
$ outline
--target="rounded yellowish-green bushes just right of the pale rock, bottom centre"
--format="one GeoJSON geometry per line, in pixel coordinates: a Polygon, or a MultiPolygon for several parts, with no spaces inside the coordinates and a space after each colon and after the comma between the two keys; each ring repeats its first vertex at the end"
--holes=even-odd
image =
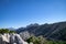
{"type": "Polygon", "coordinates": [[[26,42],[33,42],[33,44],[45,44],[47,41],[43,38],[43,36],[31,36],[30,38],[26,40],[26,42]]]}

